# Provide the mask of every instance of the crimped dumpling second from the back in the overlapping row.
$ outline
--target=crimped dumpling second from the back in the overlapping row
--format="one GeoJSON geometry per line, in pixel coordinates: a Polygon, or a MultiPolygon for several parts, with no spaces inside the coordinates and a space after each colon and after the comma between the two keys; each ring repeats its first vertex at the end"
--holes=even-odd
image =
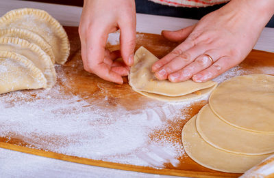
{"type": "Polygon", "coordinates": [[[40,35],[32,31],[27,29],[0,29],[0,37],[21,38],[27,40],[29,43],[36,44],[44,50],[49,57],[51,57],[51,62],[53,64],[55,63],[55,57],[51,45],[40,37],[40,35]]]}

